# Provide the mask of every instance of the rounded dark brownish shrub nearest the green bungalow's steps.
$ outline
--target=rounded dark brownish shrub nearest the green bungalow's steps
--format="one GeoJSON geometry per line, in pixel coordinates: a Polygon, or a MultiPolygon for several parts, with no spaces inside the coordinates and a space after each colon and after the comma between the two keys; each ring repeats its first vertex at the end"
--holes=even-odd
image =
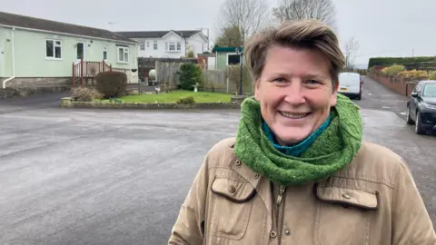
{"type": "Polygon", "coordinates": [[[105,99],[123,96],[127,88],[127,75],[123,72],[98,73],[95,81],[95,88],[105,99]]]}

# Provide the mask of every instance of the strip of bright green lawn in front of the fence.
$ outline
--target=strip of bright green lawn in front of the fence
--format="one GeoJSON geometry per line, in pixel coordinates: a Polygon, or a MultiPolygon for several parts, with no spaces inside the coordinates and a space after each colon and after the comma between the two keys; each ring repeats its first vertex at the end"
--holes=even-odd
{"type": "Polygon", "coordinates": [[[187,96],[193,96],[195,103],[230,103],[232,94],[207,92],[193,93],[191,91],[178,90],[161,94],[127,95],[120,97],[119,99],[124,103],[175,103],[177,99],[187,96]]]}

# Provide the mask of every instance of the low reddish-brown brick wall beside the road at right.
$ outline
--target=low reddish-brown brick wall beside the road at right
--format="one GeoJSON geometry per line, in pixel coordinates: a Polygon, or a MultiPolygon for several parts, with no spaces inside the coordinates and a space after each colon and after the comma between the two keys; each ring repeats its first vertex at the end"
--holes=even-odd
{"type": "Polygon", "coordinates": [[[390,88],[396,93],[400,93],[404,96],[411,95],[411,92],[415,88],[417,81],[411,79],[397,77],[397,76],[387,76],[381,72],[368,73],[372,80],[383,84],[385,87],[390,88]]]}

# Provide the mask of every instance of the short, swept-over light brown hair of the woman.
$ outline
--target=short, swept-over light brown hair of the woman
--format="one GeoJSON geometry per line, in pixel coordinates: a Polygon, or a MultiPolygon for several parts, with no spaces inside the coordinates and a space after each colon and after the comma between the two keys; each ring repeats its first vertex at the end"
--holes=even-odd
{"type": "Polygon", "coordinates": [[[253,79],[259,80],[265,65],[266,55],[272,46],[308,48],[321,52],[330,61],[333,89],[345,65],[345,57],[339,41],[328,25],[316,20],[285,22],[277,27],[268,27],[254,34],[245,44],[245,64],[253,79]]]}

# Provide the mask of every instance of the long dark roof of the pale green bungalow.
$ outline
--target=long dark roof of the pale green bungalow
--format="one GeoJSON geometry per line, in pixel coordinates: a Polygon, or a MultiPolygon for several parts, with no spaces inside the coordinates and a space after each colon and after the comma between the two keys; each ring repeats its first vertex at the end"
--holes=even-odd
{"type": "Polygon", "coordinates": [[[108,30],[88,27],[83,25],[73,25],[62,22],[56,22],[41,18],[35,18],[26,15],[15,15],[11,13],[0,12],[0,25],[8,25],[22,28],[30,28],[41,31],[54,32],[59,34],[76,34],[96,38],[109,39],[135,43],[124,35],[116,34],[108,30]]]}

